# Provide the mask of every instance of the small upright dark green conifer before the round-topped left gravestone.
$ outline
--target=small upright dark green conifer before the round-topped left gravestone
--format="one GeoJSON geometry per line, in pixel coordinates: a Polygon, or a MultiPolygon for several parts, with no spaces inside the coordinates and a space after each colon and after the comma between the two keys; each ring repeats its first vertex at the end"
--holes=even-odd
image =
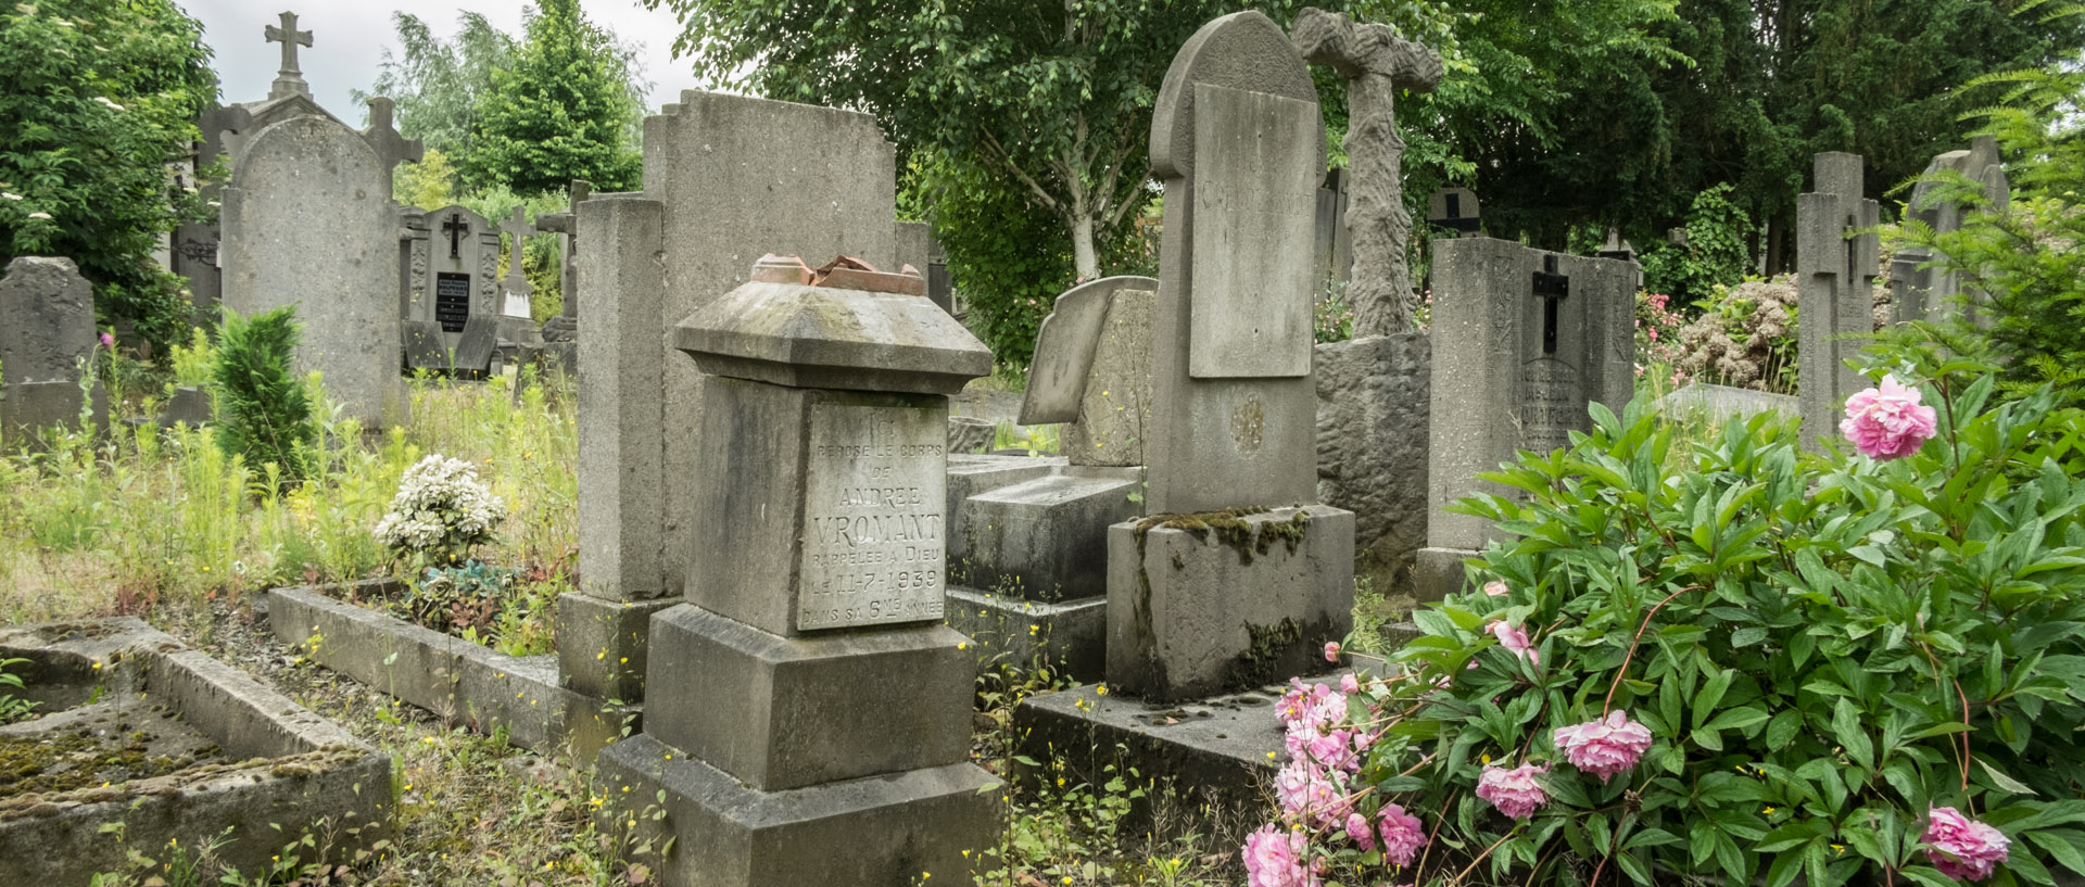
{"type": "Polygon", "coordinates": [[[311,421],[311,398],[290,371],[302,335],[296,308],[281,306],[254,316],[225,308],[217,341],[211,389],[217,398],[217,446],[227,456],[244,456],[246,466],[275,464],[284,483],[302,479],[319,439],[311,421]]]}

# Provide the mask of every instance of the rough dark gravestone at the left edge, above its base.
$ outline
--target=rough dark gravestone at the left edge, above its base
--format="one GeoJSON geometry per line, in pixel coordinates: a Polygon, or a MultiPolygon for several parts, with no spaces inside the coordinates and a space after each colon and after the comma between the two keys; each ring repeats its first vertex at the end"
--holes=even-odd
{"type": "Polygon", "coordinates": [[[17,256],[0,277],[0,383],[79,383],[98,344],[94,287],[71,258],[17,256]]]}

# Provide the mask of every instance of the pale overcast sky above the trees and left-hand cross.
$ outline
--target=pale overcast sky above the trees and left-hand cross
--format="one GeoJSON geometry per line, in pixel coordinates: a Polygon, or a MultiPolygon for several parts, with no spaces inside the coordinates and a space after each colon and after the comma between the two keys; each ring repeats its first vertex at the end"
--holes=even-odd
{"type": "MultiPolygon", "coordinates": [[[[521,33],[523,0],[177,0],[188,15],[202,21],[202,42],[215,52],[213,67],[223,85],[223,100],[254,102],[267,98],[267,85],[281,67],[281,46],[263,40],[267,25],[288,8],[296,12],[296,29],[311,31],[311,48],[298,48],[298,67],[311,83],[311,96],[342,121],[361,127],[367,112],[348,100],[348,90],[369,90],[377,79],[384,50],[398,50],[392,12],[417,15],[440,37],[457,33],[457,15],[482,12],[492,27],[521,33]]],[[[642,44],[640,75],[653,83],[646,104],[657,108],[680,100],[682,90],[698,90],[688,62],[673,60],[673,37],[680,23],[673,12],[646,10],[636,0],[580,0],[594,25],[615,31],[617,40],[642,44]]]]}

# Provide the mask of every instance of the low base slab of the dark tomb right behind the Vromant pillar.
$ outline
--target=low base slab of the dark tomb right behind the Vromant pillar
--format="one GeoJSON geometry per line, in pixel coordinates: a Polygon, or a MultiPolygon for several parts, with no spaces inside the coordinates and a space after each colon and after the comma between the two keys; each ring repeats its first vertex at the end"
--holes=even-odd
{"type": "Polygon", "coordinates": [[[1040,660],[1074,681],[1105,675],[1107,595],[1036,602],[951,587],[947,614],[949,627],[980,641],[978,658],[988,664],[1040,660]]]}

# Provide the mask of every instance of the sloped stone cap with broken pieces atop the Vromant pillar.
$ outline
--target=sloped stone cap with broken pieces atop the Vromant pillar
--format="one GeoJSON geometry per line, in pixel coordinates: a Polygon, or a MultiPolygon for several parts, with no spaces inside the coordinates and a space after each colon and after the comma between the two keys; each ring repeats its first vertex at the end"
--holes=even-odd
{"type": "Polygon", "coordinates": [[[924,281],[840,256],[763,256],[753,279],[673,327],[703,373],[788,387],[957,394],[992,352],[924,298],[924,281]]]}

